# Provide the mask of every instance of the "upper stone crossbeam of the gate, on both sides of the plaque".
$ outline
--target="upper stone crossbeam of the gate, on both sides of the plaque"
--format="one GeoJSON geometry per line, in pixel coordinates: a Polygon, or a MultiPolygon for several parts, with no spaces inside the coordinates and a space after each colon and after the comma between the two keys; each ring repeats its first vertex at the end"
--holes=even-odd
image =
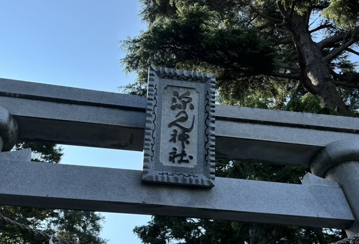
{"type": "MultiPolygon", "coordinates": [[[[0,79],[19,139],[143,150],[146,98],[0,79]],[[101,139],[101,140],[99,140],[101,139]]],[[[216,158],[309,167],[327,144],[359,139],[359,119],[216,105],[216,158]]]]}

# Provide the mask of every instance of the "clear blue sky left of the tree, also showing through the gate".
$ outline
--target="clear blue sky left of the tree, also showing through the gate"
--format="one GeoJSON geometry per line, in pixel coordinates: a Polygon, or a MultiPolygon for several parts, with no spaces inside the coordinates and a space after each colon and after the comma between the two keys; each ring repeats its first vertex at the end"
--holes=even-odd
{"type": "MultiPolygon", "coordinates": [[[[123,73],[119,40],[146,29],[137,1],[0,0],[0,77],[118,92],[123,73]]],[[[62,163],[142,169],[142,152],[64,146],[62,163]]],[[[103,213],[102,237],[141,243],[132,233],[150,216],[103,213]]]]}

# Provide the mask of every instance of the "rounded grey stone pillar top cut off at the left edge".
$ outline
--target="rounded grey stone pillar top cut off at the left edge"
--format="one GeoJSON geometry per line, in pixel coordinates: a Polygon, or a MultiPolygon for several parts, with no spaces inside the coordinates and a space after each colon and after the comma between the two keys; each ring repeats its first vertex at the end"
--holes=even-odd
{"type": "Polygon", "coordinates": [[[17,141],[18,125],[9,110],[2,106],[0,106],[0,136],[4,141],[4,147],[0,148],[0,151],[10,151],[17,141]]]}

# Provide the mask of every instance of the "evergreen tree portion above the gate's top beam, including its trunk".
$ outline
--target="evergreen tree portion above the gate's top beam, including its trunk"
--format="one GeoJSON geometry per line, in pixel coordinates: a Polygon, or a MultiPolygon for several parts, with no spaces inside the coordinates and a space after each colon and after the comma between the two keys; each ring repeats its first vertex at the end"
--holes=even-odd
{"type": "Polygon", "coordinates": [[[355,112],[348,105],[357,103],[357,97],[343,95],[353,95],[359,87],[348,59],[349,53],[359,54],[353,49],[359,40],[357,1],[141,3],[148,29],[121,41],[127,52],[125,71],[138,74],[127,90],[138,94],[148,66],[158,65],[215,73],[217,90],[232,104],[242,105],[261,93],[283,109],[288,94],[303,91],[318,95],[333,113],[355,112]]]}

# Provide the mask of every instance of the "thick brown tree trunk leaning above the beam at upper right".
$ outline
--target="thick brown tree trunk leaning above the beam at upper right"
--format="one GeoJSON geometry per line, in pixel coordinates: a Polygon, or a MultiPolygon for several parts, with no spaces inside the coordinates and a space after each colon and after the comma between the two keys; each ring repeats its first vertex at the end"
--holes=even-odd
{"type": "MultiPolygon", "coordinates": [[[[298,53],[302,82],[307,90],[320,96],[326,106],[336,110],[340,115],[349,116],[347,106],[339,95],[329,71],[329,64],[323,61],[321,49],[312,40],[307,17],[281,10],[287,29],[291,32],[295,49],[298,53]]],[[[308,10],[310,11],[310,10],[308,10]]]]}

